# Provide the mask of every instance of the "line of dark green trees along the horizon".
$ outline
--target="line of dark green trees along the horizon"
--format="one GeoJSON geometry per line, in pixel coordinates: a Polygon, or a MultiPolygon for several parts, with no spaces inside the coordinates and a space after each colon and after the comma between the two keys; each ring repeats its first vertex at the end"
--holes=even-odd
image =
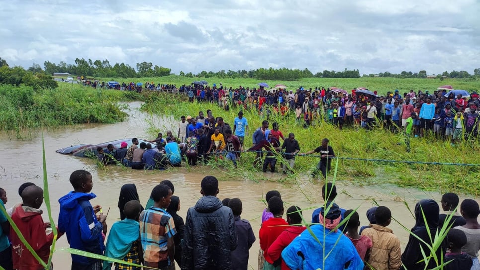
{"type": "MultiPolygon", "coordinates": [[[[4,59],[0,58],[0,67],[8,65],[4,59]]],[[[140,77],[163,77],[171,75],[171,69],[163,66],[153,65],[152,62],[137,63],[135,68],[125,63],[115,63],[111,65],[110,62],[105,60],[85,60],[84,58],[76,58],[74,64],[68,64],[60,62],[58,64],[50,61],[45,61],[42,67],[38,64],[33,64],[28,68],[32,73],[38,73],[44,71],[48,75],[53,75],[56,72],[69,73],[74,76],[83,76],[85,78],[140,78],[140,77]]],[[[322,72],[312,73],[309,69],[288,69],[288,68],[259,68],[255,70],[220,70],[214,71],[201,71],[200,73],[185,73],[180,71],[180,76],[185,77],[201,77],[201,78],[252,78],[258,80],[283,80],[294,81],[300,78],[359,78],[360,71],[358,69],[343,71],[324,70],[322,72]]],[[[392,78],[427,78],[429,76],[425,70],[419,72],[402,71],[401,73],[391,73],[388,71],[380,72],[378,74],[363,74],[362,77],[392,77],[392,78]]],[[[471,75],[467,71],[445,71],[442,74],[434,75],[442,80],[443,78],[472,78],[480,77],[480,68],[474,69],[474,73],[471,75]]]]}

